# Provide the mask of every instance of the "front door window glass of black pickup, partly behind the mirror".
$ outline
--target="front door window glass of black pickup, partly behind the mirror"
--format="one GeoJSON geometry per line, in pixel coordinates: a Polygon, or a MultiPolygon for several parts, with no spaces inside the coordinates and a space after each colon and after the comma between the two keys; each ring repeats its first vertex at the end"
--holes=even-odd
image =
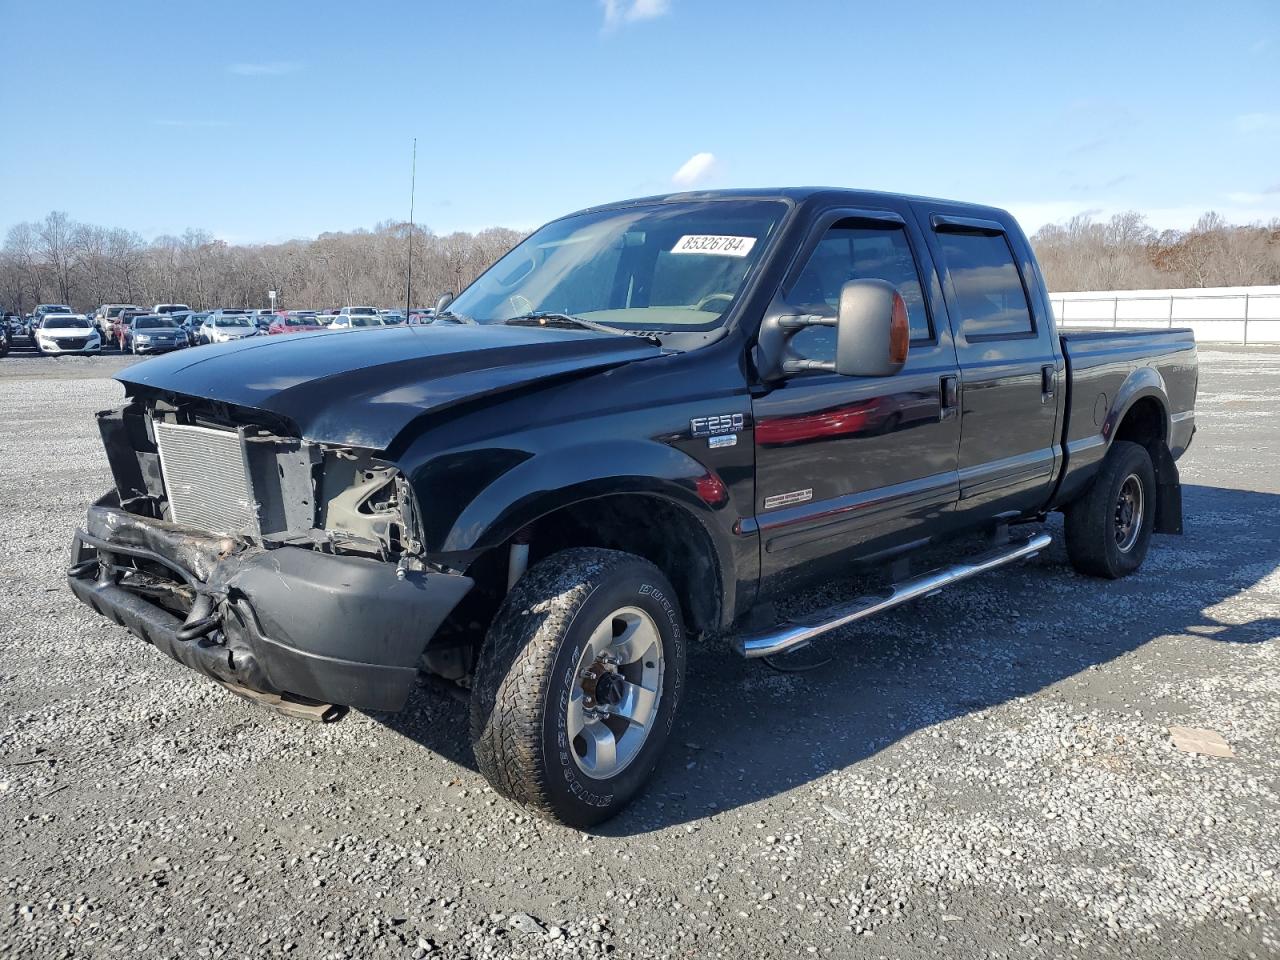
{"type": "MultiPolygon", "coordinates": [[[[920,274],[906,238],[897,227],[835,224],[818,241],[809,262],[791,285],[787,302],[813,312],[833,312],[840,288],[849,280],[888,280],[906,301],[911,342],[933,339],[920,291],[920,274]]],[[[836,329],[808,326],[791,338],[799,353],[812,360],[836,358],[836,329]]]]}

